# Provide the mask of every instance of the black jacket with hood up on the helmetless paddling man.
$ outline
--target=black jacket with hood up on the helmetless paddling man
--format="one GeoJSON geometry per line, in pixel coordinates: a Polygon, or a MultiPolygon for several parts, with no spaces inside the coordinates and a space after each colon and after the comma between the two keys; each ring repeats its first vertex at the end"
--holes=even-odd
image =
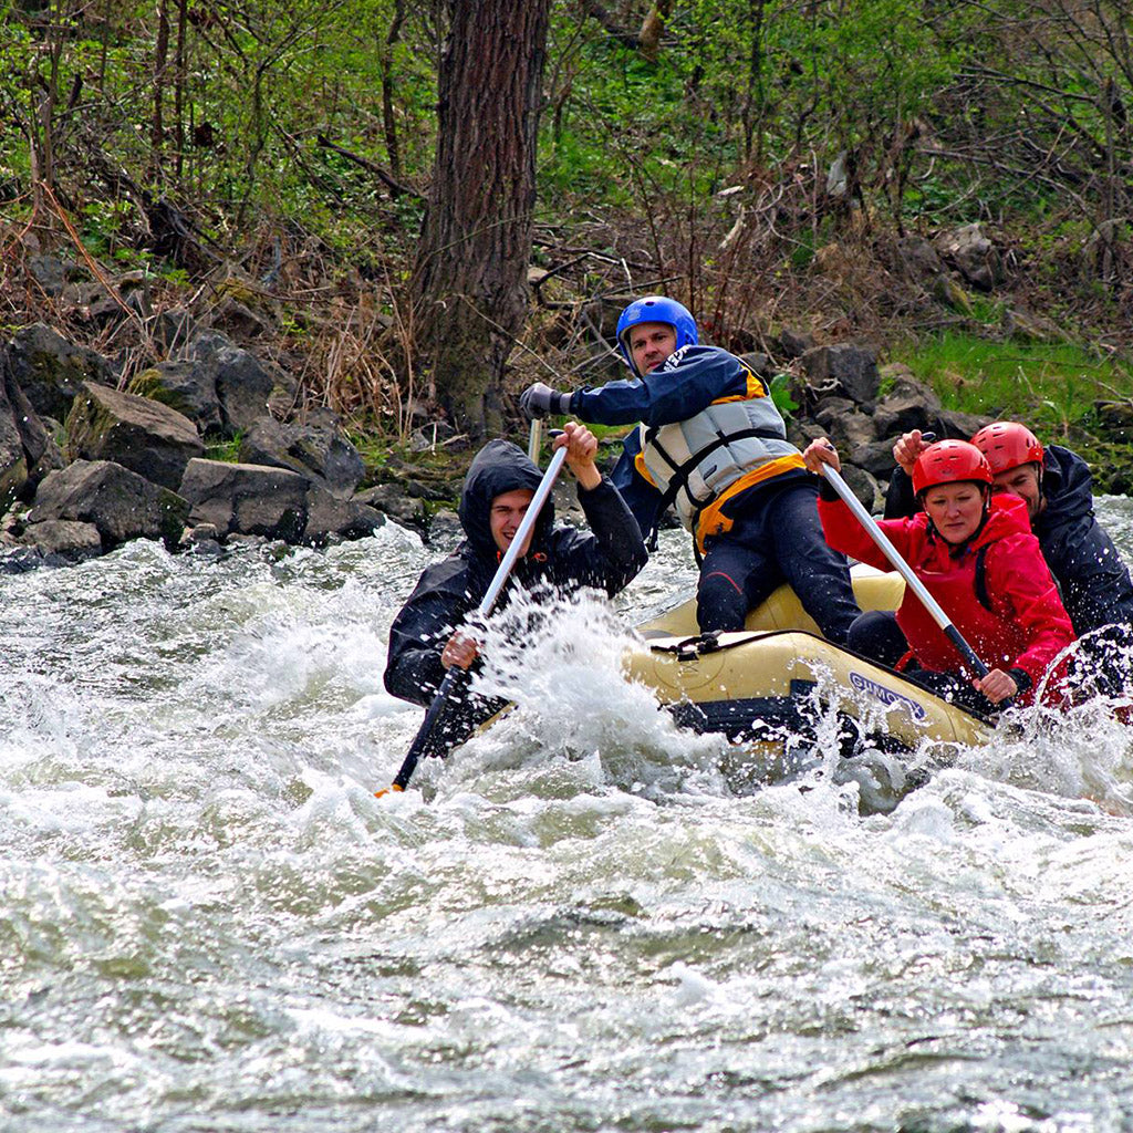
{"type": "MultiPolygon", "coordinates": [[[[460,496],[466,538],[448,559],[425,570],[390,628],[385,687],[393,696],[428,705],[436,695],[445,672],[444,644],[480,604],[500,565],[491,528],[492,501],[518,488],[534,492],[542,479],[534,461],[510,441],[489,441],[476,454],[460,496]]],[[[589,492],[580,487],[578,496],[594,534],[555,527],[548,499],[530,550],[517,561],[504,595],[519,583],[560,591],[589,586],[613,596],[645,565],[641,531],[617,489],[603,477],[589,492]]]]}

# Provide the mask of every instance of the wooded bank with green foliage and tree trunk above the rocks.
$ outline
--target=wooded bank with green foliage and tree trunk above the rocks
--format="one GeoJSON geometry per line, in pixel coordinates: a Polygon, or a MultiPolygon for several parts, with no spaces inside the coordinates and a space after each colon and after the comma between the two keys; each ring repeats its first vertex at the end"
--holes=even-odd
{"type": "Polygon", "coordinates": [[[616,376],[612,315],[659,291],[787,373],[791,342],[868,343],[946,407],[1020,416],[1124,469],[1102,486],[1130,480],[1125,0],[0,17],[6,337],[49,322],[125,383],[163,357],[162,310],[238,304],[377,468],[429,423],[517,431],[531,381],[616,376]],[[911,270],[971,224],[985,279],[911,270]],[[48,254],[112,291],[140,281],[145,317],[49,293],[28,271],[48,254]]]}

